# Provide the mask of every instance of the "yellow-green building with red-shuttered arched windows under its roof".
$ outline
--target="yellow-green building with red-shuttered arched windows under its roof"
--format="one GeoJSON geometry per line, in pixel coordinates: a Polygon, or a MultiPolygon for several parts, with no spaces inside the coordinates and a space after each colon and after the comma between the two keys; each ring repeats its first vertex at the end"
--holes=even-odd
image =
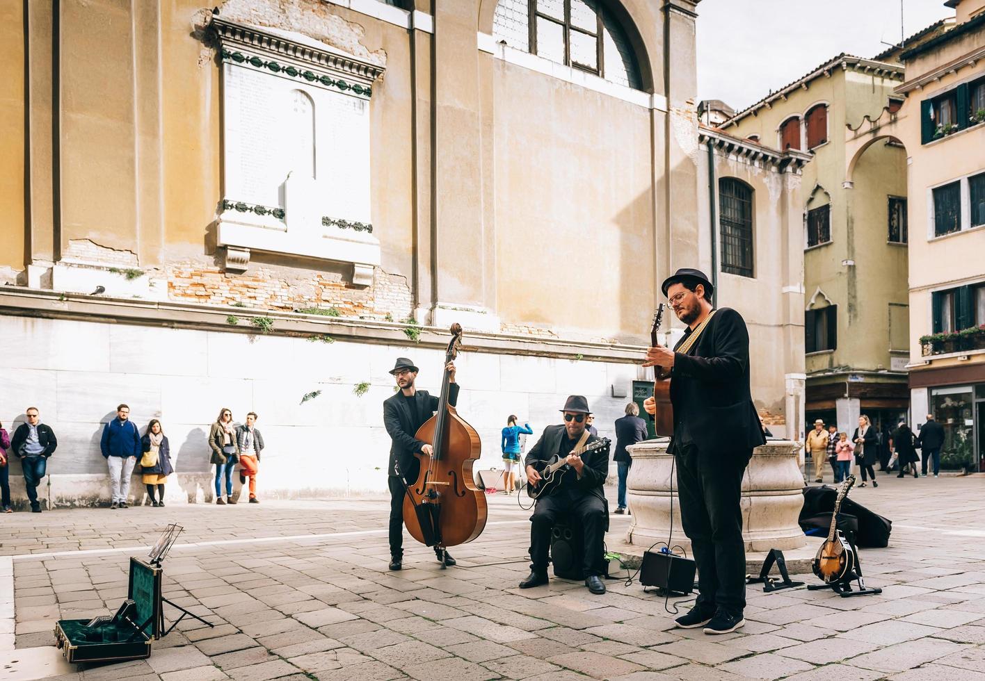
{"type": "Polygon", "coordinates": [[[840,54],[721,124],[813,157],[799,207],[808,423],[844,430],[864,413],[891,428],[906,412],[906,153],[853,142],[898,111],[902,77],[897,63],[840,54]]]}

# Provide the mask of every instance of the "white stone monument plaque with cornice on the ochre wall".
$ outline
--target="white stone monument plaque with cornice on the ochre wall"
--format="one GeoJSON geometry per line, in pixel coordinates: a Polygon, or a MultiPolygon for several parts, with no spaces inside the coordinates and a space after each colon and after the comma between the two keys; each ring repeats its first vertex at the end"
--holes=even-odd
{"type": "Polygon", "coordinates": [[[379,264],[369,102],[383,69],[295,33],[216,18],[221,45],[219,244],[379,264]]]}

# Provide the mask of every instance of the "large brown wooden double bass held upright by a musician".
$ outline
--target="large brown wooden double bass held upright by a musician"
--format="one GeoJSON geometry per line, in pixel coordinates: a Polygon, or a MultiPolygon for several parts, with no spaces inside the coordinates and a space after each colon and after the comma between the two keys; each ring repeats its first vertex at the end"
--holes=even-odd
{"type": "MultiPolygon", "coordinates": [[[[445,366],[458,356],[461,345],[462,327],[453,324],[445,366]]],[[[476,486],[472,473],[481,454],[479,434],[448,403],[449,385],[445,369],[437,411],[414,436],[429,444],[433,454],[415,455],[421,461],[421,472],[404,496],[407,531],[435,549],[472,541],[486,527],[489,514],[486,496],[476,486]]],[[[443,563],[441,567],[444,568],[443,563]]]]}

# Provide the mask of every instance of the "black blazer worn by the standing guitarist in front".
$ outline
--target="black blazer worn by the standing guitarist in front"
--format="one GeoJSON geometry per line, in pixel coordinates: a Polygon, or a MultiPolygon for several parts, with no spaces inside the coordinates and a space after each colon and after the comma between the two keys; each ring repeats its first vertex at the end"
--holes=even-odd
{"type": "Polygon", "coordinates": [[[749,332],[742,315],[719,309],[688,354],[675,353],[671,403],[675,432],[686,426],[699,450],[726,453],[765,444],[750,390],[749,332]]]}

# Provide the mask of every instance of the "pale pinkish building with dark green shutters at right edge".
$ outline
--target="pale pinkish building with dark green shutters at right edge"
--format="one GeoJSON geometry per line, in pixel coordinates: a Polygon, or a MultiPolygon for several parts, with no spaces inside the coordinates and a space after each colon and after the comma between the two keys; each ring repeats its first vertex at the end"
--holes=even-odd
{"type": "Polygon", "coordinates": [[[985,2],[900,54],[891,134],[909,155],[912,420],[944,425],[946,468],[985,470],[985,2]],[[905,114],[905,115],[904,115],[905,114]]]}

